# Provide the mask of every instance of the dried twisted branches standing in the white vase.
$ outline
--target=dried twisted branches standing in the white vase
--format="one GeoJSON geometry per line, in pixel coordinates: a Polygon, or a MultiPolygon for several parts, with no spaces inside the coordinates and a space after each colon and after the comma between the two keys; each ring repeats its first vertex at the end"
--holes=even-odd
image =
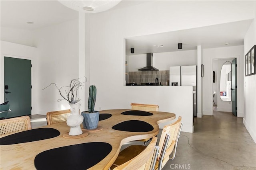
{"type": "MultiPolygon", "coordinates": [[[[79,79],[80,78],[72,79],[70,81],[69,86],[63,86],[63,87],[58,88],[58,86],[55,83],[51,83],[46,88],[48,88],[50,85],[54,84],[55,87],[59,90],[60,96],[62,98],[64,98],[64,99],[58,99],[58,102],[60,102],[61,100],[66,100],[71,104],[75,104],[75,103],[79,102],[78,90],[82,89],[82,86],[84,86],[84,83],[87,81],[87,78],[86,78],[86,81],[84,81],[84,82],[80,82],[79,79]]],[[[44,88],[44,89],[46,89],[46,88],[44,88]]]]}

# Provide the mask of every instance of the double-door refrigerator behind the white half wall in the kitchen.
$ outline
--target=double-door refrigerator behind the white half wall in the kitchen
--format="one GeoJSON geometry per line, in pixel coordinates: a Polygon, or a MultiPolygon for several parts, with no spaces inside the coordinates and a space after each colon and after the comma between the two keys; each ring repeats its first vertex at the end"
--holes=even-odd
{"type": "Polygon", "coordinates": [[[170,86],[193,86],[193,115],[197,113],[197,66],[170,66],[170,86]]]}

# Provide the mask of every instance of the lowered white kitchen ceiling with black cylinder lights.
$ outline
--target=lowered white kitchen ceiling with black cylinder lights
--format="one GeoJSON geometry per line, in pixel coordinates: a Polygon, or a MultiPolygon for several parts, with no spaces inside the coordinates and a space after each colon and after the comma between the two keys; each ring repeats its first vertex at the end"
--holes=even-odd
{"type": "Polygon", "coordinates": [[[202,48],[244,45],[244,35],[251,23],[252,20],[244,20],[126,38],[126,55],[194,50],[198,45],[202,48]],[[182,49],[178,49],[178,43],[182,43],[182,49]],[[131,48],[134,48],[133,54],[131,48]]]}

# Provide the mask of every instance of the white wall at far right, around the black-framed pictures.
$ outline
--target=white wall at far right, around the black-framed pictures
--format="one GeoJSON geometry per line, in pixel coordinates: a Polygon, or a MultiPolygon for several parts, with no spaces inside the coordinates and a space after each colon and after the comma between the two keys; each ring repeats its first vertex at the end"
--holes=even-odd
{"type": "MultiPolygon", "coordinates": [[[[256,22],[248,29],[244,37],[244,56],[256,43],[256,22]]],[[[245,60],[243,61],[245,65],[245,60]]],[[[245,68],[243,68],[244,76],[244,119],[243,123],[252,139],[256,143],[256,75],[245,76],[245,68]]]]}

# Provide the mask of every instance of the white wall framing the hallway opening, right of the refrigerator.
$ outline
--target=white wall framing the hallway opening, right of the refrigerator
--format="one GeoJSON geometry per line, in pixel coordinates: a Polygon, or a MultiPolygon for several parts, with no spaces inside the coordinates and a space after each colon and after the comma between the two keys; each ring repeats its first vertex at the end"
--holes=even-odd
{"type": "MultiPolygon", "coordinates": [[[[244,68],[244,47],[222,47],[213,49],[204,49],[203,64],[204,64],[204,78],[203,78],[203,108],[205,115],[212,115],[212,63],[213,59],[237,59],[237,116],[243,117],[243,68],[244,68]]],[[[218,69],[219,70],[219,69],[218,69]]],[[[218,73],[218,81],[220,80],[220,73],[218,73]]],[[[216,92],[219,95],[219,92],[216,92]]],[[[218,97],[218,106],[220,100],[218,97]]]]}

